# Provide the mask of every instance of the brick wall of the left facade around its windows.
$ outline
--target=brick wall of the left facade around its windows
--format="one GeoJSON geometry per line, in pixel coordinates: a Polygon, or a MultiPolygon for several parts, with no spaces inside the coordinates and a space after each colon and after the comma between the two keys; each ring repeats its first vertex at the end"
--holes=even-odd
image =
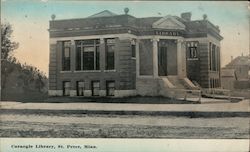
{"type": "Polygon", "coordinates": [[[132,59],[130,40],[119,40],[115,44],[115,71],[105,70],[105,44],[100,44],[100,70],[75,71],[75,45],[71,47],[71,71],[62,69],[62,45],[50,45],[49,90],[62,90],[63,81],[71,82],[71,90],[76,90],[76,82],[84,81],[85,89],[91,90],[91,81],[100,81],[100,90],[106,89],[106,81],[115,81],[117,90],[135,89],[136,63],[132,59]]]}

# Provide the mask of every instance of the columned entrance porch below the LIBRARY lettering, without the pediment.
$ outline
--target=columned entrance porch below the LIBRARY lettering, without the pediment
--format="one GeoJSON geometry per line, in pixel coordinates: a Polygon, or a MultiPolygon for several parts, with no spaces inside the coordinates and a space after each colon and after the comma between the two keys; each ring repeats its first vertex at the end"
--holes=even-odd
{"type": "MultiPolygon", "coordinates": [[[[172,36],[151,36],[141,37],[139,40],[152,42],[152,77],[176,75],[179,78],[186,77],[186,47],[182,37],[172,36]]],[[[137,73],[138,77],[146,75],[140,74],[140,54],[139,43],[137,43],[137,73]]],[[[148,61],[150,62],[150,61],[148,61]]],[[[147,75],[150,76],[150,75],[147,75]]]]}

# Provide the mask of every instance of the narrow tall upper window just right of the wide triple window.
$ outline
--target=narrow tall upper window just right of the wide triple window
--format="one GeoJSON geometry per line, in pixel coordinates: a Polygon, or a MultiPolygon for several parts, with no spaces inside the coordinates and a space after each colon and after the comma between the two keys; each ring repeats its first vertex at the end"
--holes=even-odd
{"type": "Polygon", "coordinates": [[[115,69],[115,39],[106,39],[106,70],[115,69]]]}

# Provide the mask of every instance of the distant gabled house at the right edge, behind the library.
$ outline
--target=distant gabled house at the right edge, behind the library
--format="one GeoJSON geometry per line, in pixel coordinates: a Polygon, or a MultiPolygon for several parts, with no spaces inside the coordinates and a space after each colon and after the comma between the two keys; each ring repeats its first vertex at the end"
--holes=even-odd
{"type": "Polygon", "coordinates": [[[221,83],[224,89],[250,89],[250,57],[238,56],[222,68],[221,83]]]}

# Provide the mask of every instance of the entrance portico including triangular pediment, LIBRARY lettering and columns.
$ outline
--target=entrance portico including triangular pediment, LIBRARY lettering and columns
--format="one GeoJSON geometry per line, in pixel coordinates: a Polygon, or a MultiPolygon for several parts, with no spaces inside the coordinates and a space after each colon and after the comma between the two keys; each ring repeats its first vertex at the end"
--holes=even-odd
{"type": "MultiPolygon", "coordinates": [[[[186,28],[185,25],[168,15],[154,22],[152,28],[154,29],[153,35],[138,36],[139,40],[150,39],[152,42],[152,46],[146,47],[152,47],[152,76],[154,78],[168,75],[176,75],[179,78],[186,77],[186,47],[182,35],[186,28]]],[[[147,62],[150,62],[150,59],[147,62]]],[[[137,70],[141,68],[139,65],[137,65],[137,70]]],[[[139,74],[138,76],[143,75],[139,74]]]]}

